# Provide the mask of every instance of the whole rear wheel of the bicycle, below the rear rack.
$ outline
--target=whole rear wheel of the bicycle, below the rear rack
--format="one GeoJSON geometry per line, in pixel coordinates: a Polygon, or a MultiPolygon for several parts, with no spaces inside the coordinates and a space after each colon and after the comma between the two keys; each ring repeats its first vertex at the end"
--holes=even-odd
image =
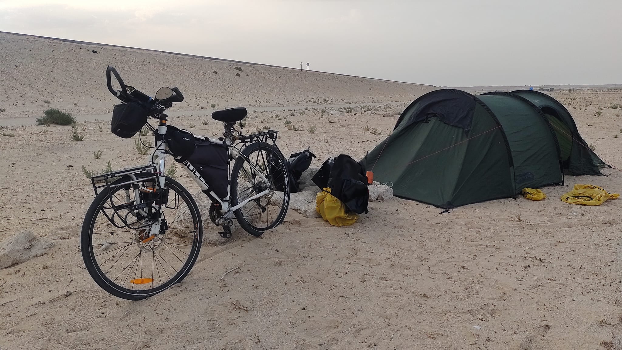
{"type": "Polygon", "coordinates": [[[289,172],[275,146],[254,142],[241,152],[231,170],[231,205],[267,190],[266,195],[248,201],[235,211],[244,231],[261,236],[283,222],[289,206],[289,172]]]}

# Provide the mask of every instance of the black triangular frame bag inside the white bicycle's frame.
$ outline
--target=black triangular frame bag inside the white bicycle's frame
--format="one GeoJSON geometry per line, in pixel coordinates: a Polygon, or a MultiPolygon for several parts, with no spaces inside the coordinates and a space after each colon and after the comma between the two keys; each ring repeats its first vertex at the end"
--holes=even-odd
{"type": "Polygon", "coordinates": [[[225,198],[229,172],[225,146],[207,140],[195,140],[195,146],[195,151],[187,157],[188,162],[197,169],[216,196],[225,198]]]}

